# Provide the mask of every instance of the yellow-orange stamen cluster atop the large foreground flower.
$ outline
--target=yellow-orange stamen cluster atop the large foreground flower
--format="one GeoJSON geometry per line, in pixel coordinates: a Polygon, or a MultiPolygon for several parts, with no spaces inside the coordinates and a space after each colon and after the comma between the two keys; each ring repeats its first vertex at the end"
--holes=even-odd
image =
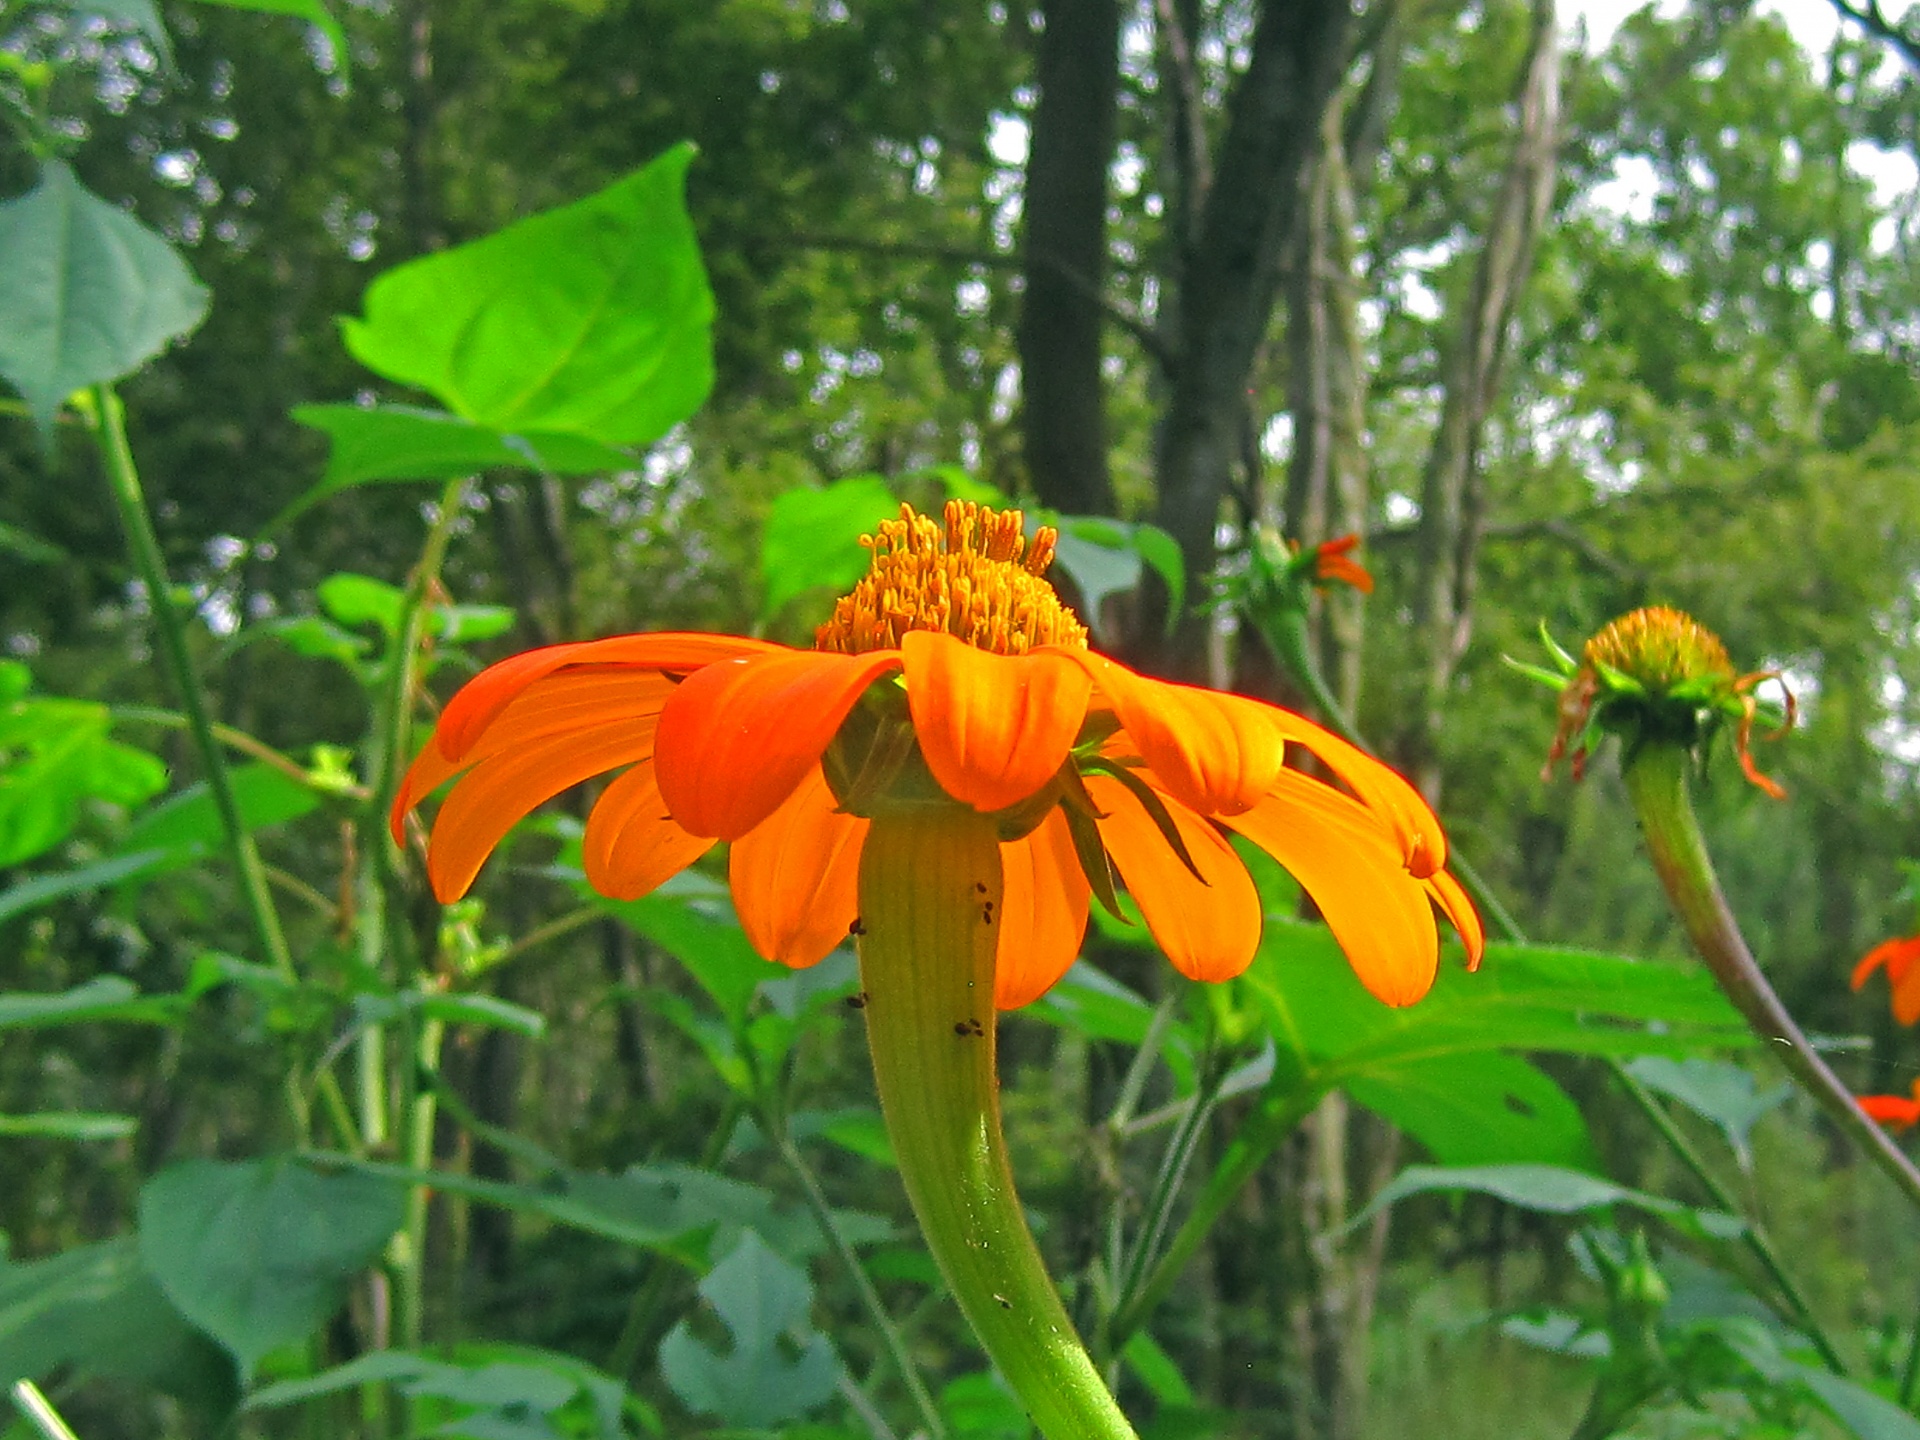
{"type": "Polygon", "coordinates": [[[1041,574],[1058,534],[1041,526],[1031,541],[1020,511],[947,501],[945,528],[900,505],[899,520],[862,536],[874,568],[833,607],[814,649],[858,655],[895,649],[908,630],[945,630],[996,655],[1035,645],[1087,647],[1087,626],[1060,603],[1041,574]]]}

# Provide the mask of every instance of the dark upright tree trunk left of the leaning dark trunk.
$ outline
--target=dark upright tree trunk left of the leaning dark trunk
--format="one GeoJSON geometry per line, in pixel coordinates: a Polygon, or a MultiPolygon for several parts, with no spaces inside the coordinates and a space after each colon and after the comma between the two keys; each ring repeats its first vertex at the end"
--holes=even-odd
{"type": "Polygon", "coordinates": [[[1046,0],[1041,102],[1025,194],[1020,374],[1027,470],[1041,503],[1112,515],[1100,292],[1106,173],[1119,83],[1117,0],[1046,0]]]}

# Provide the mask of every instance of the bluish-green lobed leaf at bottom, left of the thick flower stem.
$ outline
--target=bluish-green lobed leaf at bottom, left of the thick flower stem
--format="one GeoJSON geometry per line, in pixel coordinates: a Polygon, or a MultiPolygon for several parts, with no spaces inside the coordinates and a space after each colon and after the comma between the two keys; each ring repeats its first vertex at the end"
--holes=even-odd
{"type": "Polygon", "coordinates": [[[806,1273],[747,1231],[701,1281],[701,1298],[720,1315],[733,1348],[710,1350],[680,1321],[660,1342],[660,1375],[680,1402],[732,1425],[778,1425],[833,1398],[833,1344],[806,1329],[814,1286],[806,1273]],[[783,1348],[797,1354],[789,1357],[783,1348]]]}

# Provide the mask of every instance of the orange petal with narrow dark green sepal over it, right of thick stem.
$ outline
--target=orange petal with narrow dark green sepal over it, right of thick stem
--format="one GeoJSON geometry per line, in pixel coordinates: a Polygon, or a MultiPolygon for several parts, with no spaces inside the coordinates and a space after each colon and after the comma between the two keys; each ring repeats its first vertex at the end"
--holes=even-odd
{"type": "Polygon", "coordinates": [[[1112,776],[1087,776],[1087,793],[1106,810],[1100,839],[1173,968],[1190,979],[1233,979],[1246,970],[1260,948],[1260,891],[1227,837],[1165,797],[1196,879],[1133,791],[1112,776]]]}

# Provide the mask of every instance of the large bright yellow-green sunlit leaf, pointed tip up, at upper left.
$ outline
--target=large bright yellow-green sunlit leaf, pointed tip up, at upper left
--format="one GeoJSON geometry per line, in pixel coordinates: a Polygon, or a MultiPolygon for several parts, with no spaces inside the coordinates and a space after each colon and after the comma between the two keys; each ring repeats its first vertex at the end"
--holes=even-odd
{"type": "Polygon", "coordinates": [[[353,357],[511,434],[643,445],[712,388],[712,292],[676,146],[595,196],[415,259],[344,323],[353,357]]]}

